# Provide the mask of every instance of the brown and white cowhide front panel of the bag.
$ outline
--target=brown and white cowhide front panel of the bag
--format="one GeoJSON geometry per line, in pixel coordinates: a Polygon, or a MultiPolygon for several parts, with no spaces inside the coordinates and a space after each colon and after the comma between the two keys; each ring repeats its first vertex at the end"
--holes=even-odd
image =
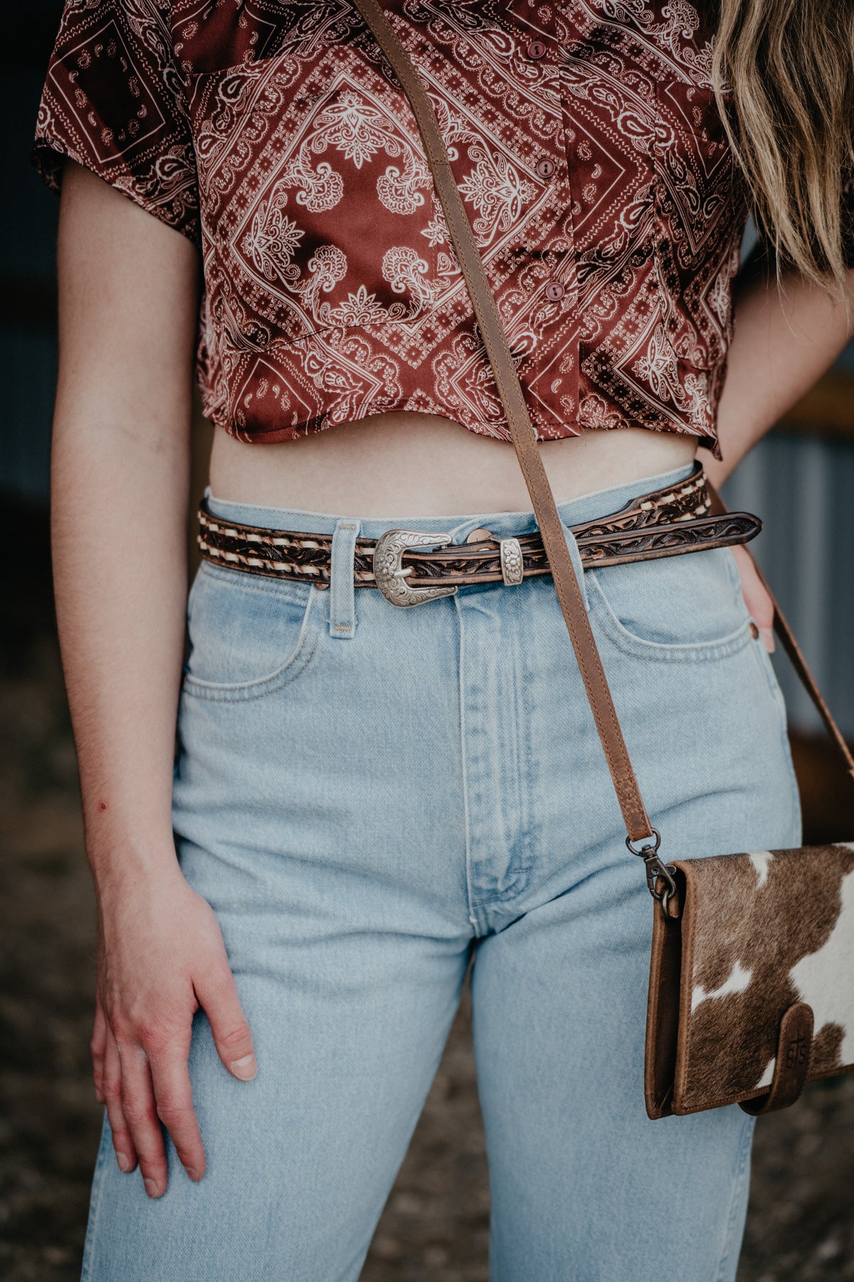
{"type": "Polygon", "coordinates": [[[679,1111],[769,1087],[780,1020],[814,1013],[808,1078],[854,1065],[854,842],[680,860],[679,1111]]]}

